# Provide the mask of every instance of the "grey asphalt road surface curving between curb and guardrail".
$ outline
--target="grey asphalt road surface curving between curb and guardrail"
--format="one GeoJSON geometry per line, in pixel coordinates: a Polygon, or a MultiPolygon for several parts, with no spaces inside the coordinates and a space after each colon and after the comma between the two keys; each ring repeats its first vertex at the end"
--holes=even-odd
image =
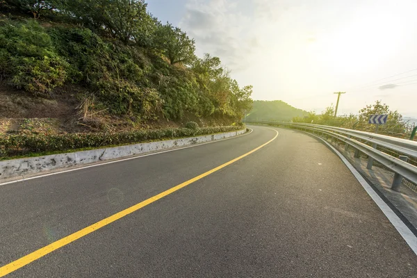
{"type": "Polygon", "coordinates": [[[253,129],[0,186],[0,274],[417,277],[417,256],[340,158],[304,133],[253,129]],[[95,230],[57,243],[85,227],[95,230]],[[45,246],[56,250],[36,257],[45,246]]]}

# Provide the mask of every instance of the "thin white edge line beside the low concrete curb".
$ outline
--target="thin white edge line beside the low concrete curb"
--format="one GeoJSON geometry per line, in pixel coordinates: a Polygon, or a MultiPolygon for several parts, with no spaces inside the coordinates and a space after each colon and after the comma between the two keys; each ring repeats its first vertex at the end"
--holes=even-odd
{"type": "MultiPolygon", "coordinates": [[[[250,128],[247,127],[247,129],[250,129],[250,128]]],[[[77,167],[75,169],[63,170],[63,171],[53,172],[53,173],[49,173],[49,174],[40,174],[38,176],[27,177],[27,178],[24,178],[24,179],[15,179],[14,181],[7,181],[5,183],[0,183],[0,186],[6,186],[6,184],[17,183],[17,182],[20,182],[20,181],[28,181],[30,179],[39,179],[39,178],[42,178],[42,177],[52,176],[54,174],[63,174],[63,173],[77,171],[77,170],[82,170],[82,169],[86,169],[86,168],[90,168],[90,167],[97,167],[97,166],[101,166],[101,165],[106,165],[106,164],[111,164],[111,163],[117,163],[117,162],[120,162],[120,161],[130,161],[131,159],[142,158],[142,157],[145,157],[145,156],[154,156],[156,154],[163,154],[165,152],[174,152],[174,151],[178,151],[179,149],[188,149],[190,147],[199,147],[199,146],[202,146],[202,145],[207,145],[207,144],[211,144],[211,143],[215,143],[215,142],[221,142],[221,141],[229,140],[229,139],[236,139],[236,138],[239,138],[239,137],[242,137],[242,136],[249,135],[250,133],[252,133],[252,131],[254,131],[254,130],[253,129],[250,129],[250,132],[243,133],[243,134],[241,134],[239,136],[233,136],[233,137],[224,138],[224,139],[220,139],[220,140],[213,140],[213,141],[210,141],[210,142],[204,142],[204,143],[197,144],[197,145],[191,145],[191,146],[186,146],[186,147],[179,147],[177,149],[167,149],[167,150],[161,151],[161,152],[153,152],[152,154],[143,154],[143,155],[140,155],[139,154],[138,156],[132,156],[132,157],[129,157],[129,158],[121,158],[121,159],[117,159],[115,161],[108,161],[108,162],[104,162],[104,163],[97,163],[97,164],[93,164],[93,165],[87,165],[87,166],[77,167]]],[[[210,134],[208,134],[208,135],[210,135],[210,134]]]]}

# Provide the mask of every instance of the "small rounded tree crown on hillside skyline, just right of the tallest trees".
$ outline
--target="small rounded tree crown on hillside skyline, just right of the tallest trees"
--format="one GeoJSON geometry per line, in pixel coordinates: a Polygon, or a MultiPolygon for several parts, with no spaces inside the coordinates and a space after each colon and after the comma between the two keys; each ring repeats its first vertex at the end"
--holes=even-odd
{"type": "Polygon", "coordinates": [[[170,60],[171,65],[190,65],[195,60],[195,41],[186,32],[169,22],[159,25],[155,33],[156,47],[170,60]]]}

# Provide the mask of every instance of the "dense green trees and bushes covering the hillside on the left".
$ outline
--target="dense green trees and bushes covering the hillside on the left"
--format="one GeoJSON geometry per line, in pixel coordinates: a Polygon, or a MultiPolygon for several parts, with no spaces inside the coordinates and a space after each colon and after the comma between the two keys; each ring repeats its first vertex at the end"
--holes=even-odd
{"type": "Polygon", "coordinates": [[[147,13],[142,0],[0,0],[0,77],[54,98],[95,98],[95,109],[140,121],[184,115],[236,122],[252,105],[195,42],[147,13]],[[64,87],[65,86],[65,87],[64,87]],[[65,89],[63,89],[65,88],[65,89]]]}

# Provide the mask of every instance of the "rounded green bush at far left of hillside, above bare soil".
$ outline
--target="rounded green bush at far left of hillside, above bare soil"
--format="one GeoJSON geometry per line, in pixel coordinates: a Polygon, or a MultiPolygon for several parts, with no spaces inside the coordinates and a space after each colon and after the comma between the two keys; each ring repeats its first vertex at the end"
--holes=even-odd
{"type": "Polygon", "coordinates": [[[35,20],[0,26],[0,71],[17,88],[47,96],[67,79],[68,63],[35,20]]]}

